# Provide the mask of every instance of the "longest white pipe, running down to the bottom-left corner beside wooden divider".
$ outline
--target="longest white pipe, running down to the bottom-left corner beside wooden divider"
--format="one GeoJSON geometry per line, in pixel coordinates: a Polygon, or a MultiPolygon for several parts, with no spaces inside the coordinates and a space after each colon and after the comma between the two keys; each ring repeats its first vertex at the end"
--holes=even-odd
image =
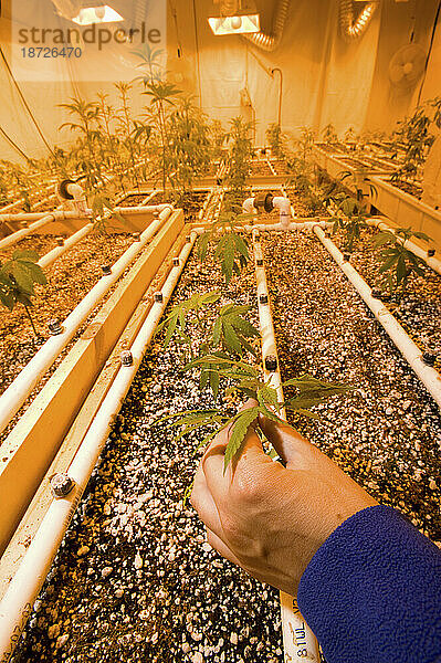
{"type": "Polygon", "coordinates": [[[72,461],[67,475],[75,482],[73,491],[63,498],[53,499],[23,560],[12,578],[0,603],[0,661],[7,663],[17,645],[71,518],[80,504],[87,482],[108,438],[112,422],[119,412],[144,354],[155,334],[171,294],[179,281],[195,244],[191,234],[179,255],[179,266],[171,269],[162,287],[162,302],[155,302],[132,348],[133,366],[122,367],[96,413],[83,442],[72,461]]]}

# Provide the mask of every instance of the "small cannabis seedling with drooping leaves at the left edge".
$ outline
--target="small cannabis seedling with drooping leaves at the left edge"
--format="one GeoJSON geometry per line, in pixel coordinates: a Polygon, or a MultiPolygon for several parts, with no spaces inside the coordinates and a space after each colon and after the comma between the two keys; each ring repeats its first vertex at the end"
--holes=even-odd
{"type": "Polygon", "coordinates": [[[35,336],[38,333],[29,311],[33,306],[31,297],[35,295],[35,284],[48,283],[38,261],[39,254],[35,251],[14,251],[11,260],[0,264],[0,302],[9,311],[13,311],[17,304],[22,304],[35,336]]]}

